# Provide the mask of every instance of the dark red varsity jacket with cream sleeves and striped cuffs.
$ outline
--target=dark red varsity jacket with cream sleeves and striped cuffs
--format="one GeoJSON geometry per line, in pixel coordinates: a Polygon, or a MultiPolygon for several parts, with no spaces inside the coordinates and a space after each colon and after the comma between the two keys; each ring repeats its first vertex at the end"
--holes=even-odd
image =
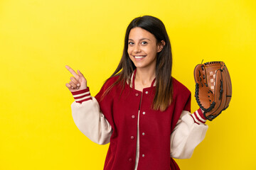
{"type": "Polygon", "coordinates": [[[179,169],[172,157],[190,158],[208,129],[201,109],[190,113],[191,92],[173,78],[171,105],[166,111],[154,111],[154,83],[143,91],[134,89],[134,83],[122,91],[117,84],[103,96],[117,78],[106,81],[95,98],[89,88],[73,92],[75,125],[93,142],[110,142],[104,169],[179,169]]]}

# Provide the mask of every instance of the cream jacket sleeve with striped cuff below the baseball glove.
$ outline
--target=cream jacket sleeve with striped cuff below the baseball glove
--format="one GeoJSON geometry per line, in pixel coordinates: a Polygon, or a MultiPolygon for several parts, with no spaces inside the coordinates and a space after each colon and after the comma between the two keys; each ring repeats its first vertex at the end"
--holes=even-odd
{"type": "Polygon", "coordinates": [[[201,109],[191,114],[182,111],[181,117],[171,133],[171,157],[188,159],[193,150],[206,136],[208,125],[201,109]]]}

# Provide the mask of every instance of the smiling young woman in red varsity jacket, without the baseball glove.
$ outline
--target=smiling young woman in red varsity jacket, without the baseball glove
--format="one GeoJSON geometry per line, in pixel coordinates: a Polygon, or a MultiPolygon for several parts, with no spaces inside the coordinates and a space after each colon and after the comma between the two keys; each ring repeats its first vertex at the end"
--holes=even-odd
{"type": "Polygon", "coordinates": [[[191,92],[171,67],[169,37],[153,16],[129,24],[121,61],[95,97],[82,73],[66,66],[75,125],[93,142],[110,142],[104,169],[179,169],[172,157],[191,157],[205,137],[203,112],[190,113],[191,92]]]}

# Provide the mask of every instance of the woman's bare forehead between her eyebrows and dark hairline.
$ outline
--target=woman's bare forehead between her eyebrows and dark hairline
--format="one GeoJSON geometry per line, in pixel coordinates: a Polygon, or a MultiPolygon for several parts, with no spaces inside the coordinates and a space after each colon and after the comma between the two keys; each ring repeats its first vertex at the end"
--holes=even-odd
{"type": "Polygon", "coordinates": [[[156,40],[153,34],[149,33],[149,31],[144,30],[140,27],[132,28],[129,32],[129,39],[132,40],[140,40],[143,38],[147,38],[149,40],[156,40]]]}

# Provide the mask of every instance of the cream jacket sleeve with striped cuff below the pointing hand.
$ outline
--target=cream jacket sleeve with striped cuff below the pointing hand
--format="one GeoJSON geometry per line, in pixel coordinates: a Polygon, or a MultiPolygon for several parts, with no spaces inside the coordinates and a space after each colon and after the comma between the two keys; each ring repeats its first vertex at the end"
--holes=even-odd
{"type": "Polygon", "coordinates": [[[109,143],[111,125],[100,111],[97,100],[90,96],[89,88],[72,94],[75,98],[71,104],[72,115],[78,129],[92,142],[99,145],[109,143]]]}

